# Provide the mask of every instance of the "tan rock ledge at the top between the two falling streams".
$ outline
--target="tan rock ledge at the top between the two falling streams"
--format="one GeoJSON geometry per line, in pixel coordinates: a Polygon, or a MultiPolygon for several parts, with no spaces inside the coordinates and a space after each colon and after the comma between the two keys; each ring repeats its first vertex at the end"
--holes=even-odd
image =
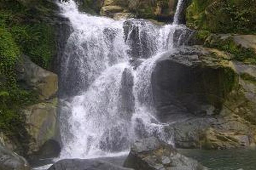
{"type": "MultiPolygon", "coordinates": [[[[175,0],[76,1],[80,4],[80,9],[87,13],[100,13],[102,16],[107,16],[114,19],[151,18],[159,21],[170,21],[174,16],[177,5],[177,1],[175,0]]],[[[185,6],[186,5],[184,5],[184,8],[185,6]]],[[[181,17],[184,18],[185,16],[181,17]]]]}

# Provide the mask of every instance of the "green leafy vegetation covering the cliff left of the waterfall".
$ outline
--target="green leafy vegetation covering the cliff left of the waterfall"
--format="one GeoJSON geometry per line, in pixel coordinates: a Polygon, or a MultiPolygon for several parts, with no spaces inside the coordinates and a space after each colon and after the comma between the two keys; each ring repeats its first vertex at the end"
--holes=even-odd
{"type": "Polygon", "coordinates": [[[22,108],[38,102],[37,92],[19,84],[16,66],[26,54],[41,67],[51,67],[56,46],[49,16],[55,7],[45,0],[0,0],[0,131],[14,141],[27,141],[22,108]]]}

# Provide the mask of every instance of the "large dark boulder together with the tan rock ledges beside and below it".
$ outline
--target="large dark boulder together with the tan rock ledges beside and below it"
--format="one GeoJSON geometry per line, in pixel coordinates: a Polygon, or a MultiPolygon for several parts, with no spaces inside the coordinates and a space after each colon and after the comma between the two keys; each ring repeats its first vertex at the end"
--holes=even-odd
{"type": "Polygon", "coordinates": [[[200,46],[163,54],[152,74],[162,122],[178,148],[229,149],[255,143],[255,66],[200,46]]]}

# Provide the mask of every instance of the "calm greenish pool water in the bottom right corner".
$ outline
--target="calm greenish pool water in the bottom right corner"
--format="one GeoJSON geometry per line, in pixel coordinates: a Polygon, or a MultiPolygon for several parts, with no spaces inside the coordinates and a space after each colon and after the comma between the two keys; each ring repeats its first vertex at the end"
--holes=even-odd
{"type": "Polygon", "coordinates": [[[181,149],[179,151],[188,157],[198,160],[211,170],[256,170],[256,149],[181,149]]]}

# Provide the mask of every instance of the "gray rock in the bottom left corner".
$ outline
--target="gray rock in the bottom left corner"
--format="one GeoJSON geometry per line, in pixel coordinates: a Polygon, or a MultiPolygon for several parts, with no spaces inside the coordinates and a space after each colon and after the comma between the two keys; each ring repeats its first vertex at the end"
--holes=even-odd
{"type": "Polygon", "coordinates": [[[25,158],[4,148],[0,144],[0,169],[1,170],[30,170],[25,158]]]}

